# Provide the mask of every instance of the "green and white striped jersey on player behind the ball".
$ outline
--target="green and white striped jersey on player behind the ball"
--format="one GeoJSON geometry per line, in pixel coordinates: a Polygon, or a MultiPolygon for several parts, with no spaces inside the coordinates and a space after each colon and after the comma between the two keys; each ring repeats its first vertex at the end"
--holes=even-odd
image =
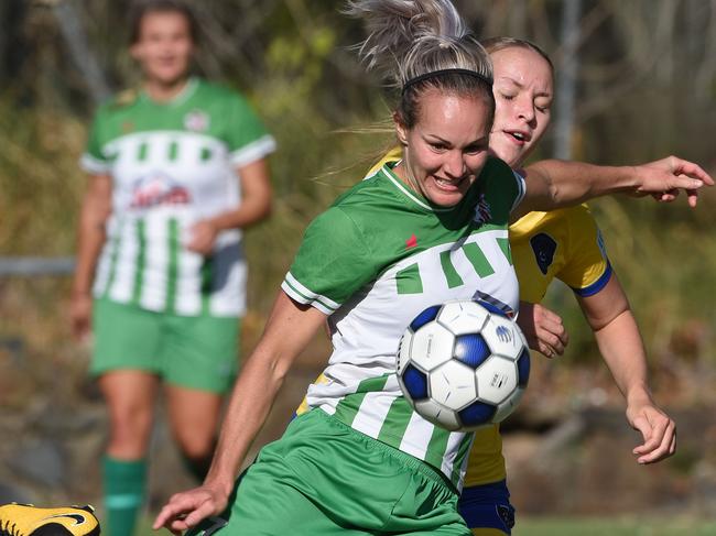
{"type": "Polygon", "coordinates": [[[517,310],[508,218],[524,182],[490,158],[465,198],[440,208],[409,189],[394,163],[368,176],[308,227],[283,281],[330,315],[334,351],[302,411],[321,408],[442,471],[462,486],[473,434],[417,415],[395,376],[399,340],[426,307],[489,296],[517,310]]]}

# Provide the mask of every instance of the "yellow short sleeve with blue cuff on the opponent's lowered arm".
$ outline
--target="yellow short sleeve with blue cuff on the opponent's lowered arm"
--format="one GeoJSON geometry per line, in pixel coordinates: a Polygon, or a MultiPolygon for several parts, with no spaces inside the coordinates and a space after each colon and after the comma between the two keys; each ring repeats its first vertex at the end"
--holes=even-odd
{"type": "Polygon", "coordinates": [[[569,243],[564,267],[556,274],[560,281],[582,297],[601,291],[611,277],[601,232],[586,206],[569,210],[569,243]]]}

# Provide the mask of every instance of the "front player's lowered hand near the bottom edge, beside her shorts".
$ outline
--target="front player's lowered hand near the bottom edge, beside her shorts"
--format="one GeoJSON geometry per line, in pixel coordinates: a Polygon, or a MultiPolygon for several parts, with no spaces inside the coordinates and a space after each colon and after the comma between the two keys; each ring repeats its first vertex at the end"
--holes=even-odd
{"type": "Polygon", "coordinates": [[[178,535],[198,525],[211,515],[218,515],[226,508],[228,496],[224,490],[204,484],[193,490],[175,493],[160,511],[152,528],[166,527],[178,535]]]}

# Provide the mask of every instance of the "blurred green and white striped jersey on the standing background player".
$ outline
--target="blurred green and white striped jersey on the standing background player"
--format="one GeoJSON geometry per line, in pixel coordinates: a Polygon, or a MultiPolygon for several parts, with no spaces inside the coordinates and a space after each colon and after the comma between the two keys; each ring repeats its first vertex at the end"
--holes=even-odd
{"type": "Polygon", "coordinates": [[[170,102],[126,92],[102,106],[82,158],[112,179],[95,296],[183,316],[241,315],[240,230],[220,232],[208,256],[184,243],[193,223],[240,205],[237,168],[274,149],[240,95],[197,78],[170,102]]]}

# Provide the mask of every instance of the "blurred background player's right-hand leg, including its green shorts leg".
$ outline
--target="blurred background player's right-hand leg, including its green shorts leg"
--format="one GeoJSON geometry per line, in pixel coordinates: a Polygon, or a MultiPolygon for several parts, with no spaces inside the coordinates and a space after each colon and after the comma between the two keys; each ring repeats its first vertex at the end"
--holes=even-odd
{"type": "Polygon", "coordinates": [[[164,328],[162,375],[170,424],[187,469],[202,481],[214,453],[221,396],[238,369],[239,320],[172,316],[164,328]]]}

